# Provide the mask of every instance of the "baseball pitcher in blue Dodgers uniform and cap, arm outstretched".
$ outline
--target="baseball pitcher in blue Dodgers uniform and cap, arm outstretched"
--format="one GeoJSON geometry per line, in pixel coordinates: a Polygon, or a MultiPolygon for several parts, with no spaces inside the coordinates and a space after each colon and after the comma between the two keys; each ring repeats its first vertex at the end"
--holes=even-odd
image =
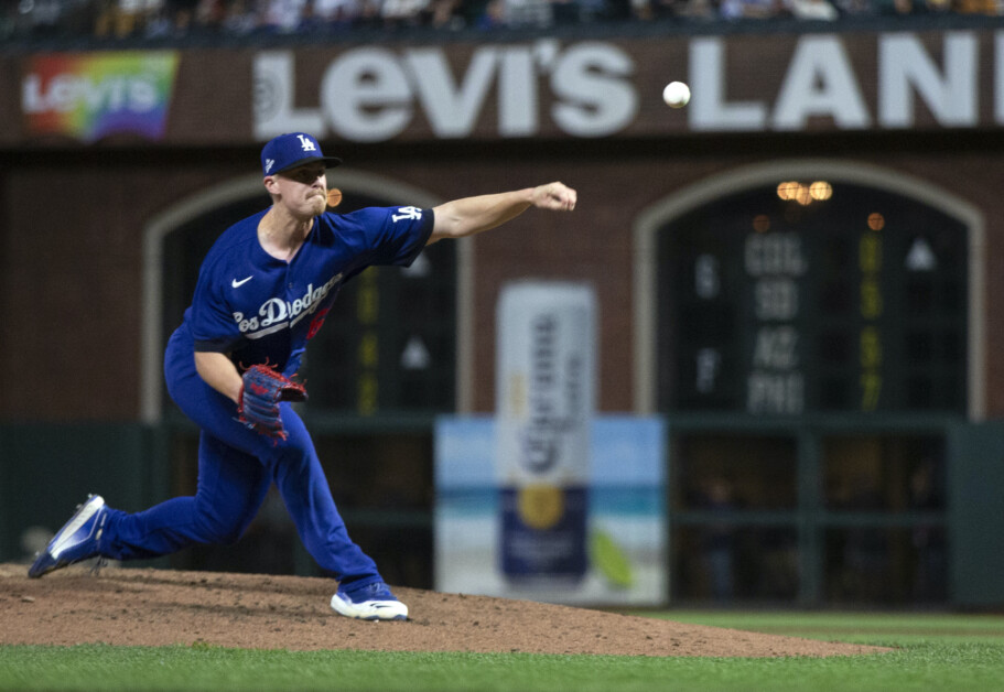
{"type": "Polygon", "coordinates": [[[443,238],[487,230],[538,207],[571,210],[562,183],[411,206],[326,212],[325,156],[304,132],[261,150],[272,204],[228,228],[206,256],[192,305],[164,356],[168,390],[201,429],[198,485],[145,511],[91,495],[29,570],[33,577],[94,556],[154,558],[237,541],[276,484],[301,540],[338,581],[331,606],[348,617],[408,618],[377,565],[346,531],[311,436],[291,402],[303,352],[338,290],[374,264],[407,267],[443,238]]]}

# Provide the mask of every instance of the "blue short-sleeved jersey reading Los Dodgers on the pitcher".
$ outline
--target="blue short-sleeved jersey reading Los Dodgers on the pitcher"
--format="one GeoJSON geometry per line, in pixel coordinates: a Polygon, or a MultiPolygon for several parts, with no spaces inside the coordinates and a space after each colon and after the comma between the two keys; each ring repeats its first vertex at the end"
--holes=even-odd
{"type": "Polygon", "coordinates": [[[267,212],[228,228],[206,255],[180,331],[194,350],[229,354],[241,370],[268,363],[288,376],[342,285],[374,264],[407,267],[433,226],[432,210],[415,207],[325,213],[287,262],[258,241],[267,212]]]}

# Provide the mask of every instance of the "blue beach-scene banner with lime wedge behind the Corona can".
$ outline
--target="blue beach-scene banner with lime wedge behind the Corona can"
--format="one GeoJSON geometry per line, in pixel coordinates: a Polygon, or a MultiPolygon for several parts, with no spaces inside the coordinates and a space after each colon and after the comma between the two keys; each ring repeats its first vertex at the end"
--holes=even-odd
{"type": "MultiPolygon", "coordinates": [[[[512,579],[503,555],[505,494],[490,415],[435,426],[435,588],[569,605],[658,606],[668,601],[665,423],[596,417],[585,493],[586,569],[574,579],[512,579]]],[[[577,511],[577,508],[575,508],[577,511]]],[[[532,532],[519,536],[533,541],[532,532]]],[[[540,534],[542,551],[551,534],[540,534]]],[[[532,551],[532,545],[521,545],[532,551]]]]}

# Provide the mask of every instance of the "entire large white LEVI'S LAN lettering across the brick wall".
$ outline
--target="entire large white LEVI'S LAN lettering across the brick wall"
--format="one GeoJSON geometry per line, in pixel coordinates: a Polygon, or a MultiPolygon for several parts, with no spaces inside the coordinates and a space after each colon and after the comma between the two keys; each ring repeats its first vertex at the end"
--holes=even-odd
{"type": "MultiPolygon", "coordinates": [[[[856,48],[848,34],[810,32],[785,51],[773,58],[767,88],[753,96],[738,84],[742,72],[730,68],[748,54],[741,42],[689,41],[688,80],[701,88],[684,111],[688,129],[807,131],[821,118],[838,130],[909,129],[924,110],[944,128],[1004,122],[1002,35],[991,45],[972,31],[943,32],[939,39],[878,33],[874,46],[859,53],[872,57],[852,61],[856,48]],[[986,107],[981,82],[994,85],[986,107]]],[[[322,65],[320,79],[298,85],[303,75],[293,51],[258,53],[256,136],[307,130],[376,142],[428,127],[438,139],[492,130],[501,138],[532,138],[555,127],[572,137],[605,137],[631,128],[643,113],[644,73],[614,43],[542,39],[481,46],[466,62],[453,57],[444,46],[353,48],[322,65]]],[[[42,91],[37,83],[25,79],[25,112],[51,101],[63,105],[64,90],[76,93],[62,83],[42,91]]]]}

